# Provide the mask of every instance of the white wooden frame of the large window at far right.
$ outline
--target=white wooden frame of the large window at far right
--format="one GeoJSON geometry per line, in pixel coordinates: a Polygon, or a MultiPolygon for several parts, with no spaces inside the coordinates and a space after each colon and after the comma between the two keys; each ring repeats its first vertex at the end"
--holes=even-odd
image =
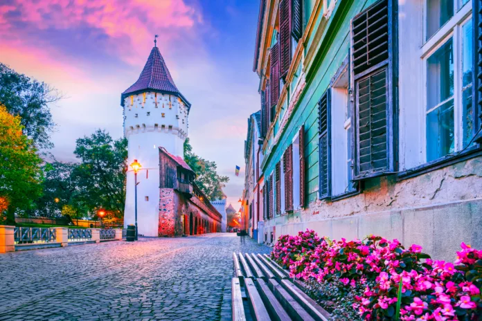
{"type": "MultiPolygon", "coordinates": [[[[427,35],[427,8],[428,1],[424,3],[423,14],[423,39],[427,35]]],[[[454,51],[454,152],[460,151],[463,147],[463,107],[462,107],[462,26],[472,19],[472,0],[461,5],[461,0],[454,1],[454,16],[440,27],[425,44],[420,48],[420,58],[422,59],[422,77],[425,84],[423,91],[423,103],[420,108],[420,137],[422,138],[422,160],[427,163],[427,61],[438,48],[442,47],[450,38],[454,51]]],[[[437,106],[440,106],[438,104],[437,106]]],[[[430,109],[433,110],[434,108],[430,109]]],[[[432,160],[435,161],[435,160],[432,160]]]]}

